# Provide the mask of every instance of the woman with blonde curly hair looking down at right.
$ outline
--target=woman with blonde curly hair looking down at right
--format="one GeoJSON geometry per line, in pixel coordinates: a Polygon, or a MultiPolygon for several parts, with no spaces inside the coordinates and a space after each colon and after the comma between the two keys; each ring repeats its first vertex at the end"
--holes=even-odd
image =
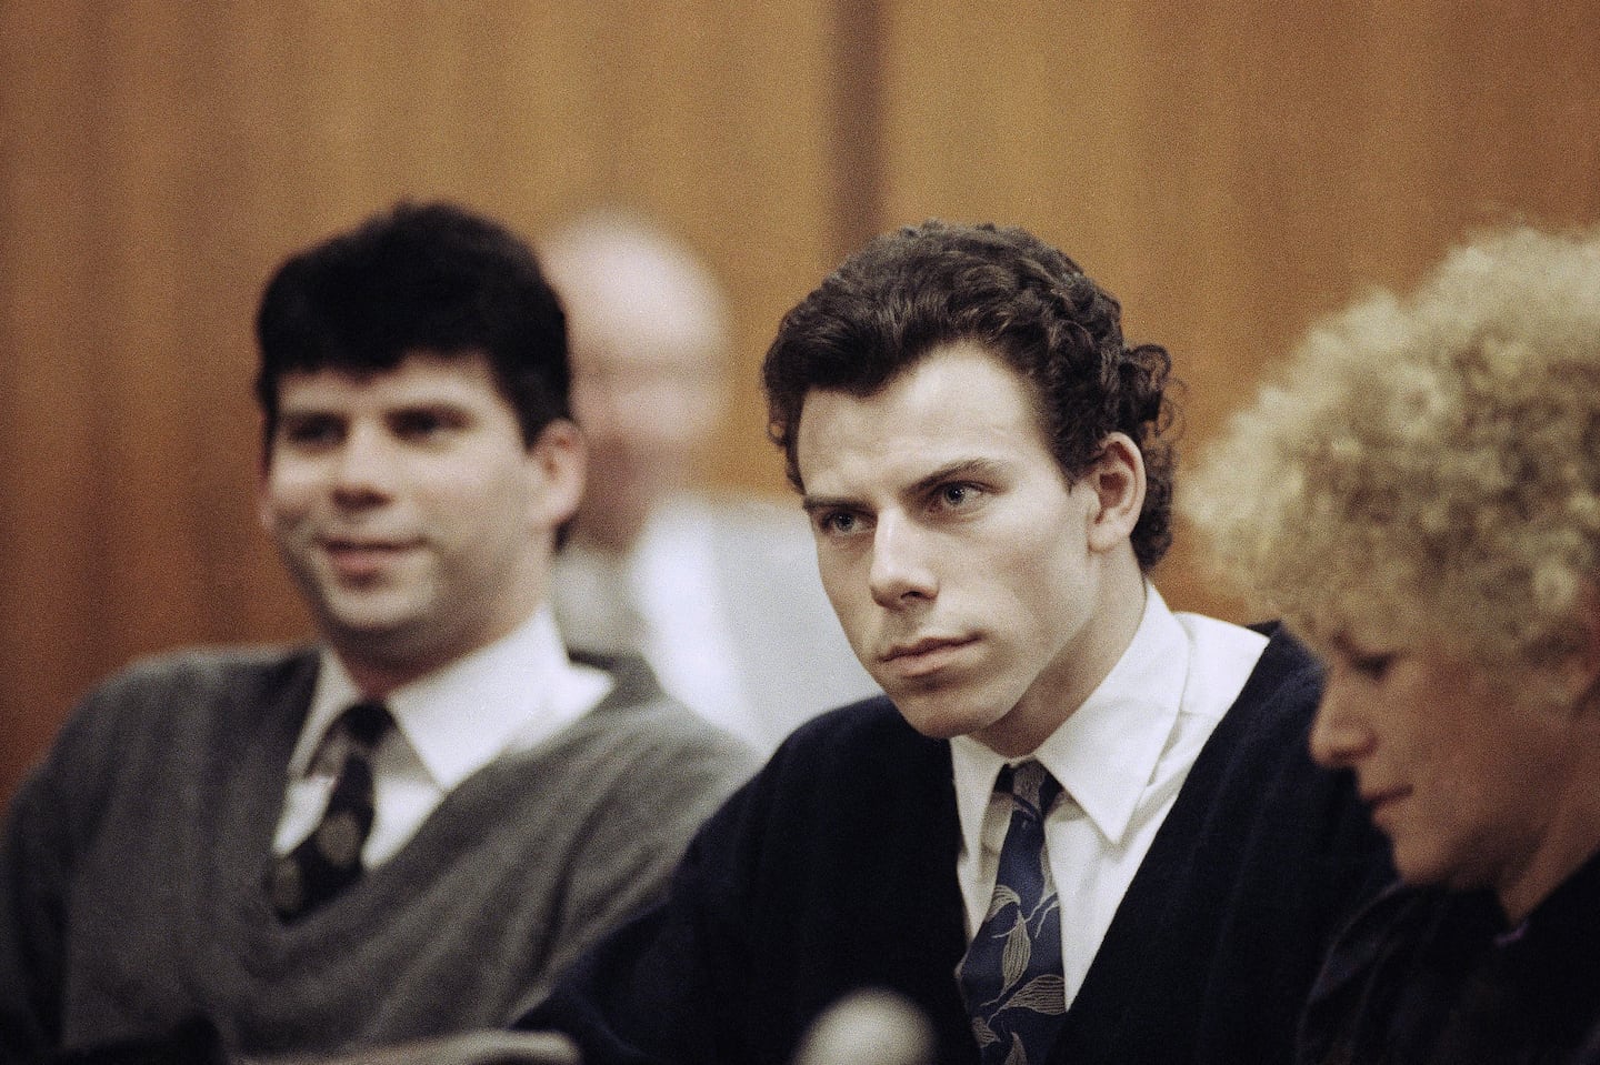
{"type": "Polygon", "coordinates": [[[1402,880],[1302,1060],[1600,1060],[1600,235],[1486,235],[1323,323],[1192,510],[1326,659],[1312,752],[1402,880]]]}

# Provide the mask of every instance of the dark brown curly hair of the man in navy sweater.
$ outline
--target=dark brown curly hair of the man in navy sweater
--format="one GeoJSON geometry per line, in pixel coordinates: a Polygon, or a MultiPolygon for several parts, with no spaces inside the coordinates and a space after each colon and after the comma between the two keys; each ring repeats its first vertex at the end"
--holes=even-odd
{"type": "Polygon", "coordinates": [[[928,221],[875,238],[784,315],[766,352],[768,435],[803,488],[795,437],[816,389],[867,397],[933,349],[973,341],[1029,382],[1069,481],[1126,433],[1144,454],[1133,531],[1149,571],[1171,545],[1174,414],[1163,347],[1130,347],[1122,305],[1061,251],[1021,229],[928,221]]]}

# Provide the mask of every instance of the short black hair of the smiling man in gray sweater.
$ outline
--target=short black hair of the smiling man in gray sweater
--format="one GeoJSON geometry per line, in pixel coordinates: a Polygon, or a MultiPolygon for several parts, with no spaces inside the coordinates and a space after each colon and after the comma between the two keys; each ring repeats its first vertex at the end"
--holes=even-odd
{"type": "Polygon", "coordinates": [[[290,256],[256,312],[256,400],[270,451],[278,382],[482,353],[528,446],[571,417],[566,318],[528,245],[453,203],[408,203],[290,256]]]}

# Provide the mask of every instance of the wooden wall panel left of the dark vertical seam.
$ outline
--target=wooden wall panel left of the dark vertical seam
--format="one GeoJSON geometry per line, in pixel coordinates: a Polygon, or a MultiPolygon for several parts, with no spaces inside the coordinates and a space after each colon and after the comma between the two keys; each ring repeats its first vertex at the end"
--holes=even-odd
{"type": "Polygon", "coordinates": [[[398,197],[699,245],[741,360],[707,477],[776,489],[755,366],[834,254],[829,34],[821,0],[0,5],[0,795],[130,657],[306,632],[254,528],[251,317],[398,197]]]}

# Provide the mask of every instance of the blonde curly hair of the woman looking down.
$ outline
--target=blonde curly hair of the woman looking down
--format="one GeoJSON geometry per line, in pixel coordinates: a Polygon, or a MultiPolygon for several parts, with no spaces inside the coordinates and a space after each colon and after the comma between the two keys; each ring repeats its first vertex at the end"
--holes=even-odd
{"type": "Polygon", "coordinates": [[[1221,569],[1326,652],[1579,646],[1600,576],[1600,230],[1514,229],[1314,328],[1181,497],[1221,569]]]}

